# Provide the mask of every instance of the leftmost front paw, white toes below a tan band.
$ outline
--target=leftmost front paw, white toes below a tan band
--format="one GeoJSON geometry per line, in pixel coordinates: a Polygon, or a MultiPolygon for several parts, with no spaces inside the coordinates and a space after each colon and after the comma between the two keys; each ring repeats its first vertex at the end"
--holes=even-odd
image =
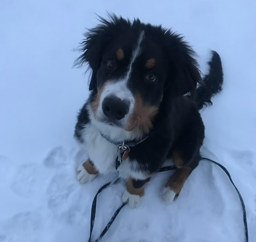
{"type": "Polygon", "coordinates": [[[92,181],[99,173],[89,159],[83,164],[79,165],[76,172],[76,178],[82,184],[92,181]]]}

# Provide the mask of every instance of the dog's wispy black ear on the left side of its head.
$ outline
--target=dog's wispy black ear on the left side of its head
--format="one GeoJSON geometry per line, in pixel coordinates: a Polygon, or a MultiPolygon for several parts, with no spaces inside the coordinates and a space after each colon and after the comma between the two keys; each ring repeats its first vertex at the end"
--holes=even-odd
{"type": "Polygon", "coordinates": [[[101,24],[97,25],[95,28],[89,29],[88,32],[84,34],[85,39],[80,43],[80,47],[78,48],[82,54],[74,62],[74,66],[78,67],[88,64],[88,69],[92,70],[89,85],[90,91],[97,86],[97,70],[101,65],[104,48],[110,41],[113,41],[113,37],[117,35],[124,24],[131,24],[121,17],[119,18],[110,14],[108,16],[110,18],[109,20],[98,16],[101,24]]]}

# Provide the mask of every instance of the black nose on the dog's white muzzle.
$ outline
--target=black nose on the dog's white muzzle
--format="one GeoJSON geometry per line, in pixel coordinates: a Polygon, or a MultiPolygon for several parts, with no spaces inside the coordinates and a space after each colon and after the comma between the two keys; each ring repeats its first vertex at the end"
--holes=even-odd
{"type": "Polygon", "coordinates": [[[106,97],[102,103],[102,110],[106,117],[120,120],[129,112],[129,102],[115,96],[106,97]]]}

